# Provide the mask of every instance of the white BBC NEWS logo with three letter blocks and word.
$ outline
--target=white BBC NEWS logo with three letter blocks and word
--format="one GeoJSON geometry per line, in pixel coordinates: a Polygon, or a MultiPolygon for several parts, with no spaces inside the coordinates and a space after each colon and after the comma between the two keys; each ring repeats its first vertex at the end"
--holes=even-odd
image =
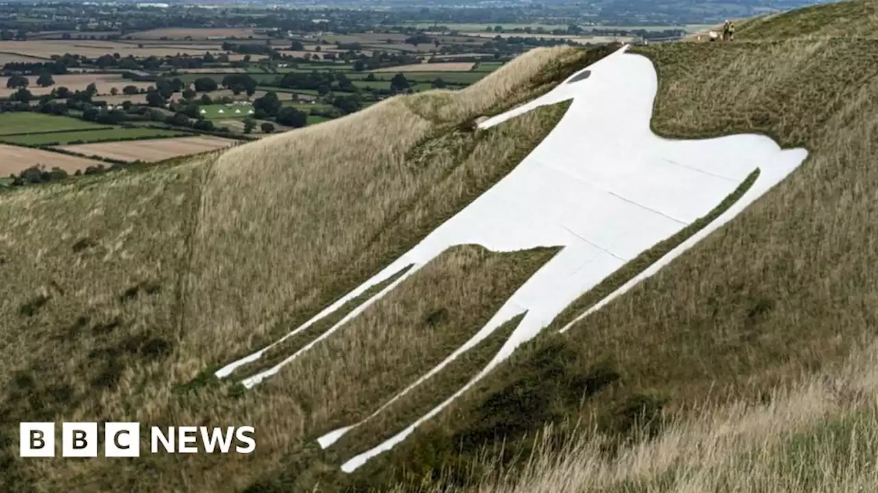
{"type": "MultiPolygon", "coordinates": [[[[20,423],[21,457],[54,457],[54,423],[20,423]]],[[[169,426],[149,430],[150,452],[170,454],[250,454],[256,448],[253,426],[169,426]],[[201,447],[199,450],[198,439],[201,447]],[[233,447],[233,444],[237,444],[233,447]],[[215,452],[216,451],[216,452],[215,452]]],[[[62,457],[97,457],[97,423],[62,423],[62,457]]],[[[140,423],[104,423],[104,457],[140,457],[140,423]]]]}

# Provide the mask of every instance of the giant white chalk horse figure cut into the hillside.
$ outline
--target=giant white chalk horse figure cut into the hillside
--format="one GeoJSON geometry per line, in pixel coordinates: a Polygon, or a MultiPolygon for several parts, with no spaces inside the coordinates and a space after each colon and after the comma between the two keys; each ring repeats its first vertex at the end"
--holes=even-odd
{"type": "MultiPolygon", "coordinates": [[[[335,325],[332,329],[335,330],[449,247],[479,244],[502,252],[563,247],[522,284],[464,346],[371,416],[435,375],[507,320],[526,312],[486,368],[405,430],[345,462],[342,470],[353,471],[405,439],[416,426],[442,411],[505,360],[515,347],[549,325],[577,297],[637,254],[708,214],[754,169],[759,168],[759,178],[729,211],[602,300],[595,309],[652,275],[710,231],[734,218],[807,156],[804,149],[781,150],[772,139],[759,135],[702,140],[659,138],[650,130],[652,104],[658,87],[655,69],[645,57],[626,51],[627,46],[588,67],[591,75],[587,78],[563,82],[529,104],[489,118],[479,125],[489,128],[538,106],[572,99],[570,109],[556,128],[509,175],[381,273],[291,332],[303,330],[400,268],[414,264],[397,282],[335,325]]],[[[571,79],[575,77],[572,75],[571,79]]],[[[261,354],[257,352],[236,361],[219,370],[217,375],[228,375],[243,362],[253,361],[261,354]]],[[[245,385],[251,387],[274,375],[294,356],[275,368],[248,378],[245,385]]],[[[345,432],[369,418],[327,433],[320,437],[320,446],[329,447],[345,432]]]]}

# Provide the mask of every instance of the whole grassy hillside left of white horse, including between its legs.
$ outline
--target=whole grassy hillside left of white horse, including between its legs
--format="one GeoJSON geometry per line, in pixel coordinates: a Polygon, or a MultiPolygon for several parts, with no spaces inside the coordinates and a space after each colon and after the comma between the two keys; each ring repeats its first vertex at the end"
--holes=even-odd
{"type": "MultiPolygon", "coordinates": [[[[0,484],[22,492],[341,487],[347,457],[323,454],[315,439],[369,416],[441,361],[554,249],[453,248],[259,387],[242,392],[235,382],[265,361],[222,382],[212,370],[414,246],[514,168],[567,104],[484,132],[469,130],[473,118],[527,101],[610,51],[535,50],[461,92],[400,96],[225,153],[0,196],[0,484]],[[247,457],[22,460],[17,422],[33,420],[248,424],[258,447],[247,457]]],[[[337,450],[356,453],[441,402],[511,328],[337,450]]],[[[291,340],[271,357],[305,342],[291,340]]]]}

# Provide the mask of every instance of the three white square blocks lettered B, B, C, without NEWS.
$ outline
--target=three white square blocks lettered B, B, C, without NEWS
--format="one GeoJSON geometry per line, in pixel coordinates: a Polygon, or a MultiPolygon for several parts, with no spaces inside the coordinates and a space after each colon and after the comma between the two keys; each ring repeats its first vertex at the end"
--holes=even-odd
{"type": "MultiPolygon", "coordinates": [[[[54,423],[18,426],[21,457],[54,457],[54,423]]],[[[97,457],[97,423],[61,424],[61,456],[97,457]]],[[[140,423],[106,423],[104,457],[140,457],[140,423]]]]}

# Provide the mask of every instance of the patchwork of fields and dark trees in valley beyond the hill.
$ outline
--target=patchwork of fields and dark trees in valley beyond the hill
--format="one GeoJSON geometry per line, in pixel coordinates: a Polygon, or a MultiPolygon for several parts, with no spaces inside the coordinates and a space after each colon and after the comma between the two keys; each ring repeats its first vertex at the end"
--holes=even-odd
{"type": "Polygon", "coordinates": [[[465,46],[450,56],[414,46],[409,37],[349,32],[279,39],[241,27],[161,28],[125,36],[51,31],[0,40],[8,58],[0,74],[0,113],[32,112],[40,120],[8,120],[13,130],[0,142],[116,165],[152,162],[199,152],[205,146],[189,138],[200,134],[220,139],[206,139],[206,147],[224,146],[222,139],[317,125],[397,94],[464,89],[524,47],[505,56],[480,53],[489,40],[450,35],[429,45],[465,46]],[[485,56],[499,60],[485,62],[485,56]],[[169,152],[138,159],[150,144],[136,140],[179,138],[187,140],[169,140],[169,152]],[[119,142],[127,144],[113,145],[119,142]]]}

